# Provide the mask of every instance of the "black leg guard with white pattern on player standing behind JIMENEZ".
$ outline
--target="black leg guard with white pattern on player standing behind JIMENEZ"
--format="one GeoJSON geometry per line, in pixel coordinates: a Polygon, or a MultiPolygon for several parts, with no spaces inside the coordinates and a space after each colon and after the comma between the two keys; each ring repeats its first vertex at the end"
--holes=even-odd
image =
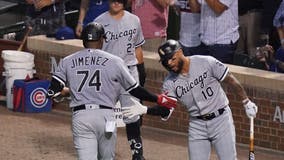
{"type": "Polygon", "coordinates": [[[140,133],[140,119],[136,122],[126,124],[126,133],[132,152],[132,160],[144,160],[143,144],[140,133]]]}

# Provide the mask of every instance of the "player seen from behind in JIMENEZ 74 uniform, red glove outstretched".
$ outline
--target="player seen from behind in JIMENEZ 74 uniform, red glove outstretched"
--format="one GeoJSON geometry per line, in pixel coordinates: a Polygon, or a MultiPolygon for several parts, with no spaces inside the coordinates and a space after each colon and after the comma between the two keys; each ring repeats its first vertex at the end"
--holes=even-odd
{"type": "Polygon", "coordinates": [[[176,101],[154,95],[138,85],[123,60],[101,50],[105,37],[101,24],[90,23],[82,31],[86,49],[60,60],[48,89],[56,97],[68,84],[72,132],[80,160],[113,160],[116,125],[113,107],[123,87],[137,98],[175,107],[176,101]]]}

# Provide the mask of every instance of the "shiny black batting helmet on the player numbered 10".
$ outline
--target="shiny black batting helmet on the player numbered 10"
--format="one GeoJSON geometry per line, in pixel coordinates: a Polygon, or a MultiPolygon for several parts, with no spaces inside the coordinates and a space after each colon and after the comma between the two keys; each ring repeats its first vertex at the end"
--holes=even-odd
{"type": "Polygon", "coordinates": [[[158,53],[160,56],[160,61],[162,65],[167,69],[170,70],[168,66],[168,61],[173,57],[173,55],[181,49],[181,45],[178,41],[169,39],[166,42],[162,43],[158,48],[158,53]]]}

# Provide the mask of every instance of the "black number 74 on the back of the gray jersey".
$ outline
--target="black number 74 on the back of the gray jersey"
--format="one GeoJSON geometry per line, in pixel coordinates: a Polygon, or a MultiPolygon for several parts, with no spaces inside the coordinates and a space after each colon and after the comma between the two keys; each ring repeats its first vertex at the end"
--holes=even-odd
{"type": "Polygon", "coordinates": [[[92,87],[92,86],[95,86],[96,87],[96,91],[100,91],[101,89],[101,72],[100,70],[96,70],[93,75],[89,75],[89,70],[80,70],[80,71],[77,71],[77,75],[83,75],[83,79],[81,80],[81,83],[78,87],[78,90],[77,92],[81,92],[83,87],[85,85],[88,85],[87,87],[92,87]],[[89,78],[91,77],[91,78],[89,78]]]}

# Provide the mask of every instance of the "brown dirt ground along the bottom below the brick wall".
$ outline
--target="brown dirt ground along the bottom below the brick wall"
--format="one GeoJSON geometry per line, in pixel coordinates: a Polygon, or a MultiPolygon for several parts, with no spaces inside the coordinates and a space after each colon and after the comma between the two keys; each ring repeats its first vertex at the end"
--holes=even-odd
{"type": "MultiPolygon", "coordinates": [[[[71,113],[16,113],[0,106],[0,160],[75,160],[71,113]]],[[[187,136],[142,127],[147,160],[186,160],[187,136]]],[[[246,160],[246,145],[238,145],[238,159],[246,160]]],[[[130,160],[125,128],[118,129],[116,160],[130,160]]],[[[257,160],[283,160],[284,153],[256,149],[257,160]]],[[[211,160],[217,160],[214,152],[211,160]]]]}

